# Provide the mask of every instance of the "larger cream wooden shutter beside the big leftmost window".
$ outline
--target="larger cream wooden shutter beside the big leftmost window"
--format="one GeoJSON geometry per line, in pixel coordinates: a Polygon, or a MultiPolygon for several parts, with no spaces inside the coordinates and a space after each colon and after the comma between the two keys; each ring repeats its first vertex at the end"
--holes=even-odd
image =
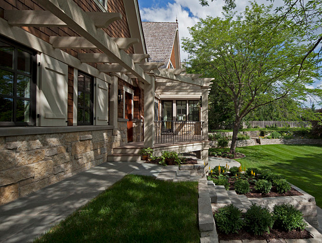
{"type": "Polygon", "coordinates": [[[68,66],[41,55],[40,126],[67,126],[68,66]]]}

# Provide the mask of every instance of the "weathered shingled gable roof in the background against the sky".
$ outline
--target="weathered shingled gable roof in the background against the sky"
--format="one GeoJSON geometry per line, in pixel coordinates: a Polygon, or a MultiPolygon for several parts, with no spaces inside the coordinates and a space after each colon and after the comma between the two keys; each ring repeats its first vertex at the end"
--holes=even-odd
{"type": "Polygon", "coordinates": [[[163,62],[167,68],[178,31],[178,23],[142,22],[149,62],[163,62]]]}

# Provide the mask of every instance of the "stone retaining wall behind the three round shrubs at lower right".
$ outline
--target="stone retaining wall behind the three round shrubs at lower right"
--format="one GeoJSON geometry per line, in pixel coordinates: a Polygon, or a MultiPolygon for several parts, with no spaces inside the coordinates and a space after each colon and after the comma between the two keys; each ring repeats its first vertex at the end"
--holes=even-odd
{"type": "Polygon", "coordinates": [[[303,213],[304,219],[313,227],[318,227],[317,212],[315,198],[306,193],[302,189],[291,185],[293,188],[301,192],[302,196],[276,196],[276,197],[263,197],[263,198],[248,198],[250,202],[254,202],[261,206],[268,207],[271,211],[274,205],[280,205],[283,203],[289,203],[296,209],[303,213]]]}

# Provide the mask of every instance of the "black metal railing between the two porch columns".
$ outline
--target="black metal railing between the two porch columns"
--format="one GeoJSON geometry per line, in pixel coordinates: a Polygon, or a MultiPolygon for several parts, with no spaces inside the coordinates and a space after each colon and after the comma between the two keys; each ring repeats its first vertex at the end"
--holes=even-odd
{"type": "Polygon", "coordinates": [[[154,121],[154,143],[203,140],[201,121],[154,121]]]}

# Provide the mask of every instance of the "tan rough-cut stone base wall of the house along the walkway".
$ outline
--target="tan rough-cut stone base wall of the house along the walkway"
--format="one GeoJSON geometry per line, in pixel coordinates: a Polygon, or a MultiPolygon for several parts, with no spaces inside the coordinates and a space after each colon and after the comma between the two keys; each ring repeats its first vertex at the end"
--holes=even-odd
{"type": "Polygon", "coordinates": [[[126,122],[114,130],[0,137],[0,204],[101,164],[126,142],[126,122]]]}

